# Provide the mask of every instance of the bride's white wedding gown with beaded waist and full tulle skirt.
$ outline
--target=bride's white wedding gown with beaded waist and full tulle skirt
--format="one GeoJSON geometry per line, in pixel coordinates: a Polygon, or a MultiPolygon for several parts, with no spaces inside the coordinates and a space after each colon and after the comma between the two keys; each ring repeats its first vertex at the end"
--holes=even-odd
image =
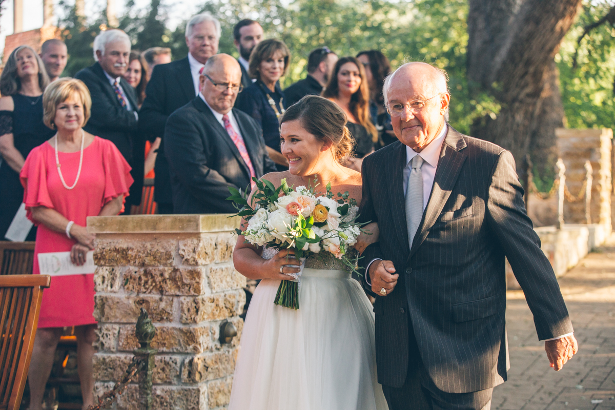
{"type": "Polygon", "coordinates": [[[229,410],[387,410],[371,303],[344,264],[308,258],[298,310],[274,305],[279,285],[261,280],[252,296],[229,410]]]}

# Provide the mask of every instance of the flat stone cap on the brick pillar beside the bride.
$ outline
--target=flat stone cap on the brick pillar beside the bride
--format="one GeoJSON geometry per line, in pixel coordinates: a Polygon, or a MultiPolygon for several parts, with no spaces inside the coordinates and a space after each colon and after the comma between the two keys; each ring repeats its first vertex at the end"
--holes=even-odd
{"type": "Polygon", "coordinates": [[[241,218],[231,214],[88,216],[90,234],[234,232],[241,218]]]}

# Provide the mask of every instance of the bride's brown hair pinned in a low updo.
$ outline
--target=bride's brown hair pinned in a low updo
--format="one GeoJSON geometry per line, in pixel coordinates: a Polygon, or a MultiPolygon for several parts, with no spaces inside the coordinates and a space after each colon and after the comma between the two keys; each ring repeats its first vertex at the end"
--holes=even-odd
{"type": "Polygon", "coordinates": [[[346,162],[354,148],[354,139],[338,104],[319,95],[306,95],[284,112],[280,125],[295,120],[300,120],[303,128],[317,140],[333,143],[335,159],[340,164],[346,162]]]}

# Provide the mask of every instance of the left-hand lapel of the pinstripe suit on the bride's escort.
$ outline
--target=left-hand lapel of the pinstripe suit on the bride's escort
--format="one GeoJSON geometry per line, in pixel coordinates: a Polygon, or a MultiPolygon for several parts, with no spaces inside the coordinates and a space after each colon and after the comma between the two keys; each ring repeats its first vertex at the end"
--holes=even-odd
{"type": "Polygon", "coordinates": [[[405,199],[403,197],[403,168],[406,166],[406,146],[399,143],[399,148],[391,151],[387,159],[387,175],[391,175],[389,194],[391,195],[391,215],[397,238],[399,238],[406,254],[410,251],[408,245],[408,226],[406,223],[405,199]]]}

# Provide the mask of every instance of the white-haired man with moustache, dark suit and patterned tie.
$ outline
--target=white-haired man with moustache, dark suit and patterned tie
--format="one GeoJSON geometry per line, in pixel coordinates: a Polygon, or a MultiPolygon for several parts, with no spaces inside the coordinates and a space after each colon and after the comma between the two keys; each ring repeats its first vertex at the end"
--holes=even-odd
{"type": "Polygon", "coordinates": [[[92,97],[92,114],[84,130],[113,142],[132,170],[125,213],[141,203],[145,140],[137,132],[137,95],[122,77],[128,69],[130,37],[122,30],[102,31],[94,39],[94,65],[75,74],[87,85],[92,97]]]}

